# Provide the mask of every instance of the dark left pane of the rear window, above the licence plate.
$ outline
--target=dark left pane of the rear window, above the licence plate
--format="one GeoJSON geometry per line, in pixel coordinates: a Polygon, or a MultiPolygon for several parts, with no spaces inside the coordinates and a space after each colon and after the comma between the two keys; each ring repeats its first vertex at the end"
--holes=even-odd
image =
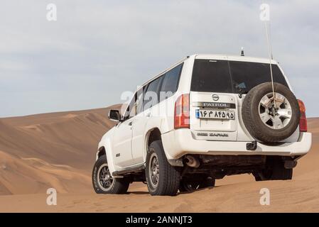
{"type": "Polygon", "coordinates": [[[228,62],[195,60],[190,89],[194,92],[231,93],[232,82],[228,62]]]}

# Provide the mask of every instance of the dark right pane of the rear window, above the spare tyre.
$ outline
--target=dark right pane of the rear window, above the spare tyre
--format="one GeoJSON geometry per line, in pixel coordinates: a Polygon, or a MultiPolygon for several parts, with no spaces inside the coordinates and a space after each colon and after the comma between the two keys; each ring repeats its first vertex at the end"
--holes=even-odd
{"type": "MultiPolygon", "coordinates": [[[[234,92],[239,89],[249,92],[250,89],[264,82],[271,82],[270,65],[256,62],[235,62],[229,61],[232,73],[232,83],[234,92]]],[[[288,87],[286,79],[283,77],[278,65],[271,65],[274,82],[281,83],[288,87]]]]}

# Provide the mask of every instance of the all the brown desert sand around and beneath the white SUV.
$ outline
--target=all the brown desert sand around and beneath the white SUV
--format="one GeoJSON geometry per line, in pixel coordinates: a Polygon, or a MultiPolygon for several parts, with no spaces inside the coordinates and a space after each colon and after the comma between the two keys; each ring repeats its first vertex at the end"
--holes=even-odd
{"type": "MultiPolygon", "coordinates": [[[[119,106],[116,106],[117,108],[119,106]]],[[[124,195],[95,194],[91,170],[97,143],[114,126],[108,109],[0,118],[0,212],[318,212],[319,118],[308,119],[313,147],[289,181],[255,182],[252,175],[178,196],[150,196],[142,183],[124,195]],[[46,190],[58,205],[46,204],[46,190]],[[261,206],[261,188],[271,204],[261,206]]]]}

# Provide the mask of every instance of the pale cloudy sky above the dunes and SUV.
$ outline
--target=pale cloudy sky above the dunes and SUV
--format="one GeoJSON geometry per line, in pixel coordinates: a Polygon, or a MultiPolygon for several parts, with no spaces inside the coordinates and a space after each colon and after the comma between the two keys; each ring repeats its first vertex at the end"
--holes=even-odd
{"type": "Polygon", "coordinates": [[[94,109],[195,53],[274,58],[307,116],[319,116],[319,1],[5,0],[0,4],[0,117],[94,109]],[[57,21],[47,20],[47,5],[57,21]]]}

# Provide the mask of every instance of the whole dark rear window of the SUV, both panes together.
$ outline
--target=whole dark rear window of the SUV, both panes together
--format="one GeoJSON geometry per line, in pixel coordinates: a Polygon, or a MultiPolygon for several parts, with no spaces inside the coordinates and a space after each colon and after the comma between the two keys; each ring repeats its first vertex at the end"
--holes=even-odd
{"type": "MultiPolygon", "coordinates": [[[[271,65],[274,82],[288,87],[278,65],[271,65]]],[[[195,60],[191,91],[243,93],[256,85],[271,82],[269,64],[226,60],[195,60]]]]}

